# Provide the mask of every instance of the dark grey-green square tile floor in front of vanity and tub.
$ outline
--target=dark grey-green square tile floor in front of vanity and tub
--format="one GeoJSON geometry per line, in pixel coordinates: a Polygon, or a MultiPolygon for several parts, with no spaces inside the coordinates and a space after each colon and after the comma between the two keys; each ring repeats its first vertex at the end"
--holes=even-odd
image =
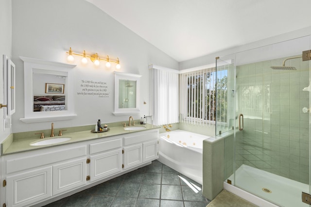
{"type": "Polygon", "coordinates": [[[46,207],[206,207],[209,202],[202,185],[155,160],[46,207]]]}

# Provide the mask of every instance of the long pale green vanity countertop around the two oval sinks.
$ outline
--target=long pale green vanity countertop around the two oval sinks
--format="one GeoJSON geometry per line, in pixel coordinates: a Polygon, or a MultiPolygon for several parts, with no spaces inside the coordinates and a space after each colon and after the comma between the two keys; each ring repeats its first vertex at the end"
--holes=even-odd
{"type": "Polygon", "coordinates": [[[4,140],[1,143],[1,156],[2,155],[9,155],[9,154],[15,154],[19,152],[26,152],[26,151],[32,151],[37,149],[43,149],[53,146],[59,146],[69,143],[77,143],[77,142],[83,142],[87,140],[93,140],[93,139],[99,139],[99,138],[105,138],[105,137],[111,137],[111,136],[117,136],[121,134],[130,134],[135,133],[138,131],[145,131],[155,128],[160,128],[159,126],[154,126],[151,124],[145,124],[145,128],[138,129],[138,130],[125,130],[124,127],[109,127],[109,131],[101,132],[101,133],[93,133],[90,130],[87,131],[79,131],[79,132],[73,132],[73,133],[64,133],[63,136],[55,136],[55,137],[47,137],[44,139],[34,138],[34,139],[24,139],[24,140],[14,140],[13,136],[9,136],[6,140],[4,140]],[[62,143],[54,143],[54,144],[48,144],[48,145],[41,145],[41,146],[32,146],[31,143],[43,141],[43,140],[49,140],[49,139],[55,139],[55,138],[65,138],[69,137],[71,138],[68,141],[62,142],[62,143]]]}

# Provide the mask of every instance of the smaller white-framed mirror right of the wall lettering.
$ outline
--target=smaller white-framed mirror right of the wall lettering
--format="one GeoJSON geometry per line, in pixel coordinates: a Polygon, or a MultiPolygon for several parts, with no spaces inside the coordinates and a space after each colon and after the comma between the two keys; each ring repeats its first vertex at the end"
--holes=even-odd
{"type": "Polygon", "coordinates": [[[114,115],[133,115],[139,113],[139,78],[141,75],[115,73],[114,115]]]}

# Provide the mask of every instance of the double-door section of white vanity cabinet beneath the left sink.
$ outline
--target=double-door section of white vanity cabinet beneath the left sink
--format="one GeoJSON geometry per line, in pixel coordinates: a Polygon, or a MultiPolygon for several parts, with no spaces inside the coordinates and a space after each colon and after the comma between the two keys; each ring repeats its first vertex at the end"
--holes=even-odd
{"type": "Polygon", "coordinates": [[[24,207],[86,184],[86,145],[63,145],[3,157],[6,206],[24,207]]]}

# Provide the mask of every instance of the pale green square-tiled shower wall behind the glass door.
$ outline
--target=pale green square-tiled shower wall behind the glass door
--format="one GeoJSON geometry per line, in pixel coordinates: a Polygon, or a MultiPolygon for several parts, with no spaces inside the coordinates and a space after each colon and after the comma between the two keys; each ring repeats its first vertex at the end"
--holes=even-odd
{"type": "Polygon", "coordinates": [[[237,137],[236,164],[243,163],[309,183],[309,62],[286,62],[297,70],[273,70],[284,59],[237,66],[237,114],[244,116],[237,137]]]}

